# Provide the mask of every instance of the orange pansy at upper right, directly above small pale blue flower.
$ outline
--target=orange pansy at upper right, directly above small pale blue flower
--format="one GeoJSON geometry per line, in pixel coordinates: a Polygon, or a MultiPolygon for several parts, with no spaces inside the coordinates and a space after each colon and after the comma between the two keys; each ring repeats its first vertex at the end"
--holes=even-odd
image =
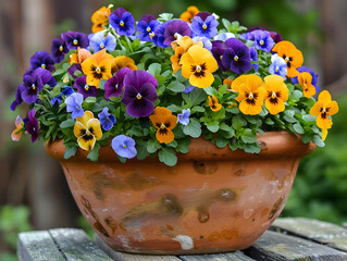
{"type": "Polygon", "coordinates": [[[280,41],[272,49],[273,52],[277,52],[278,57],[283,58],[287,63],[287,76],[296,77],[299,72],[297,71],[303,63],[303,57],[290,41],[280,41]]]}

